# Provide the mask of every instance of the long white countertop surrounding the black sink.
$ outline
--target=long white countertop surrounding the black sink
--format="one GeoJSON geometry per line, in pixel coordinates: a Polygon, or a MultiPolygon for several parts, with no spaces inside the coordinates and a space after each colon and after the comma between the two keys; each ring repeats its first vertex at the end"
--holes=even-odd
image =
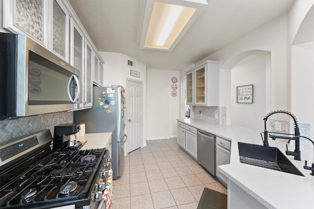
{"type": "MultiPolygon", "coordinates": [[[[237,142],[262,145],[262,138],[259,132],[243,127],[216,125],[190,118],[177,120],[231,140],[230,164],[220,165],[218,169],[267,208],[314,208],[314,176],[310,175],[310,170],[303,169],[305,160],[308,161],[308,166],[314,163],[313,149],[301,148],[301,161],[296,161],[293,159],[293,156],[286,155],[305,177],[297,176],[239,162],[237,142]]],[[[262,129],[263,127],[261,127],[261,132],[263,131],[262,129]]],[[[269,146],[278,147],[285,153],[286,142],[270,139],[268,143],[269,146]]],[[[293,151],[294,146],[288,144],[288,149],[293,151]]]]}

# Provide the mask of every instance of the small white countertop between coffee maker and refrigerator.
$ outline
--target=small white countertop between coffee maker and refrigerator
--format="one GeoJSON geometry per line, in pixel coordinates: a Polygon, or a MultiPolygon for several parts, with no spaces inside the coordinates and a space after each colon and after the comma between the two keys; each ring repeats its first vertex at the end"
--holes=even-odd
{"type": "MultiPolygon", "coordinates": [[[[85,134],[78,137],[78,141],[86,141],[81,149],[102,149],[105,148],[108,140],[112,136],[111,132],[108,133],[93,133],[85,134]]],[[[107,147],[106,147],[107,148],[107,147]]]]}

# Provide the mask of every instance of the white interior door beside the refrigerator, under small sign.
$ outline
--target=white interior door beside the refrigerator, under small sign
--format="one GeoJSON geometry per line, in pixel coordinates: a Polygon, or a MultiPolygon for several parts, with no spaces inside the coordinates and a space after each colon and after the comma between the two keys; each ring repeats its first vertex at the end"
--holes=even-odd
{"type": "Polygon", "coordinates": [[[128,153],[142,145],[142,82],[127,81],[128,153]]]}

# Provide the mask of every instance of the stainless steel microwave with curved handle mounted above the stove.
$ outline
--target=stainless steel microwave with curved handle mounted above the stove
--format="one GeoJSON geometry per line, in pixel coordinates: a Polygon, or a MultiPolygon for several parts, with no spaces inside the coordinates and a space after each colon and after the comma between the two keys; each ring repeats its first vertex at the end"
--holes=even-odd
{"type": "Polygon", "coordinates": [[[74,110],[75,68],[25,35],[0,33],[0,119],[74,110]]]}

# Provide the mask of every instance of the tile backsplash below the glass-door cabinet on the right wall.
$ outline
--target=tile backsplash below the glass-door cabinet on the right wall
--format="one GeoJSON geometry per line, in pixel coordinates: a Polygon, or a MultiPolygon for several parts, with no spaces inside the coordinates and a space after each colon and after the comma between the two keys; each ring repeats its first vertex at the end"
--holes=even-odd
{"type": "Polygon", "coordinates": [[[191,118],[225,125],[227,119],[226,107],[192,106],[191,118]]]}

